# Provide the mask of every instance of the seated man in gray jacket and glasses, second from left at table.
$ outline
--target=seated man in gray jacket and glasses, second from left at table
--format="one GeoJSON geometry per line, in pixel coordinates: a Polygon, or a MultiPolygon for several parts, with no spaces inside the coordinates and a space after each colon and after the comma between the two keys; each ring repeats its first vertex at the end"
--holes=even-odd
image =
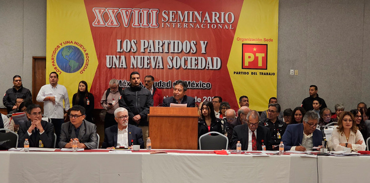
{"type": "Polygon", "coordinates": [[[72,148],[73,140],[77,140],[77,147],[95,149],[98,143],[96,125],[85,121],[85,108],[74,105],[70,109],[70,122],[62,124],[60,134],[60,148],[72,148]]]}

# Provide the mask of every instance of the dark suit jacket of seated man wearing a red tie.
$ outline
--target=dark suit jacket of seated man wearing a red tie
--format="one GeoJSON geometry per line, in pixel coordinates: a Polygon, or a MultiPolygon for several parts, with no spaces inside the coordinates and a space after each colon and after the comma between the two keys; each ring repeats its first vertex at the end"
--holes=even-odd
{"type": "MultiPolygon", "coordinates": [[[[235,126],[232,133],[231,149],[236,149],[236,143],[240,141],[242,144],[242,150],[248,150],[248,136],[248,124],[235,126]]],[[[272,150],[272,145],[270,143],[270,129],[265,126],[258,125],[256,139],[257,150],[262,150],[262,140],[263,144],[266,146],[266,150],[272,150]]]]}

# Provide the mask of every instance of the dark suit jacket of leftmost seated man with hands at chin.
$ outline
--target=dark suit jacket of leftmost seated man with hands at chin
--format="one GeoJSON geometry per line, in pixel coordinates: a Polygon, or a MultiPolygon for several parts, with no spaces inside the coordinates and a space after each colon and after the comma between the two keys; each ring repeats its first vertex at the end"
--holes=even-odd
{"type": "Polygon", "coordinates": [[[32,132],[31,136],[28,135],[27,131],[28,128],[31,126],[31,121],[27,121],[24,123],[20,123],[19,125],[19,140],[18,140],[18,147],[23,148],[24,140],[28,139],[30,142],[30,147],[38,148],[40,140],[44,144],[44,148],[53,148],[54,146],[54,125],[53,123],[49,123],[47,121],[41,120],[41,126],[43,126],[44,133],[40,135],[40,133],[32,132]]]}

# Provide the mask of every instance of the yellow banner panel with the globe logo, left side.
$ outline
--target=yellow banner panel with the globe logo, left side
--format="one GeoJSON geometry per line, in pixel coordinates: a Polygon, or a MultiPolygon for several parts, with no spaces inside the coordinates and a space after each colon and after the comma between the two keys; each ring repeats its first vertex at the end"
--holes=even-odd
{"type": "Polygon", "coordinates": [[[50,72],[57,72],[72,102],[78,83],[90,87],[98,66],[84,1],[48,0],[46,32],[46,83],[50,72]]]}

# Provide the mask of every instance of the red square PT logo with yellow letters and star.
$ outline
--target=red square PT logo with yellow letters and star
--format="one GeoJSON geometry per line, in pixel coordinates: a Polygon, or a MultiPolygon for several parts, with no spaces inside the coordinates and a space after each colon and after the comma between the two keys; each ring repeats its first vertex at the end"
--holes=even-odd
{"type": "Polygon", "coordinates": [[[267,44],[242,44],[242,69],[267,70],[267,44]]]}

